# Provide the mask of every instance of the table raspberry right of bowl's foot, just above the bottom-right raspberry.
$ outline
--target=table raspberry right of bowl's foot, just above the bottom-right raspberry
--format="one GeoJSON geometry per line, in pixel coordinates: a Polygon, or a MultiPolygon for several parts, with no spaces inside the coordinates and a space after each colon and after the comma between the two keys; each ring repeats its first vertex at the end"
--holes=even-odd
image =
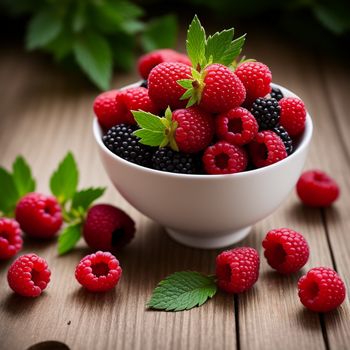
{"type": "Polygon", "coordinates": [[[309,259],[306,239],[289,228],[269,231],[262,246],[268,264],[283,274],[299,271],[309,259]]]}

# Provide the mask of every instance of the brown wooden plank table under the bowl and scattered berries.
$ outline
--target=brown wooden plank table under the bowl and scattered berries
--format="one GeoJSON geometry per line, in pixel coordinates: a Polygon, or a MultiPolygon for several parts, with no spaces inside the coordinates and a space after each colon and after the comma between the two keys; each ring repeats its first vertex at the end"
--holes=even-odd
{"type": "MultiPolygon", "coordinates": [[[[74,268],[88,250],[81,242],[58,257],[56,242],[25,240],[23,252],[45,257],[52,270],[47,291],[35,300],[14,295],[6,282],[9,262],[0,263],[0,348],[23,350],[57,340],[70,349],[349,349],[349,296],[338,310],[319,315],[300,304],[296,283],[309,268],[334,267],[350,286],[350,72],[320,53],[251,33],[249,57],[267,63],[274,81],[304,99],[314,118],[315,133],[307,168],[332,174],[342,190],[336,205],[311,210],[294,193],[272,216],[255,225],[239,245],[262,253],[261,241],[275,227],[304,234],[311,247],[305,268],[291,277],[273,272],[262,258],[260,279],[249,292],[219,294],[187,312],[148,311],[145,303],[157,282],[175,271],[212,273],[217,251],[197,250],[172,241],[157,223],[141,215],[115,191],[102,168],[91,133],[96,91],[74,73],[52,66],[43,56],[3,49],[0,57],[0,161],[9,167],[23,154],[32,164],[38,189],[67,150],[81,170],[80,185],[108,186],[103,202],[126,210],[137,222],[137,237],[118,258],[124,275],[107,294],[84,291],[74,268]]],[[[135,81],[119,75],[115,86],[135,81]]],[[[49,347],[53,349],[53,347],[49,347]]]]}

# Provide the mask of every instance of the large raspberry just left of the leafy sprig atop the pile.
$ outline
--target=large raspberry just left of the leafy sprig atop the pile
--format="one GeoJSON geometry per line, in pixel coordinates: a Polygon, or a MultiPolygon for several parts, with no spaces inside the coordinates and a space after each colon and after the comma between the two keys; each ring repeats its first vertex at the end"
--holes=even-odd
{"type": "Polygon", "coordinates": [[[187,101],[180,100],[186,91],[177,81],[189,79],[191,67],[183,63],[164,62],[155,66],[148,77],[148,94],[160,108],[185,108],[187,101]]]}

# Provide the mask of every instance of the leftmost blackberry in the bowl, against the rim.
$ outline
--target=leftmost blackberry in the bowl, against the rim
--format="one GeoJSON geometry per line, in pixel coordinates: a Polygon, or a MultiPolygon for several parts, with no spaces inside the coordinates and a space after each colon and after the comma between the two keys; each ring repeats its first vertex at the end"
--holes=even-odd
{"type": "Polygon", "coordinates": [[[103,143],[117,156],[129,162],[150,167],[153,148],[138,142],[138,137],[132,134],[136,129],[135,125],[115,125],[103,136],[103,143]]]}

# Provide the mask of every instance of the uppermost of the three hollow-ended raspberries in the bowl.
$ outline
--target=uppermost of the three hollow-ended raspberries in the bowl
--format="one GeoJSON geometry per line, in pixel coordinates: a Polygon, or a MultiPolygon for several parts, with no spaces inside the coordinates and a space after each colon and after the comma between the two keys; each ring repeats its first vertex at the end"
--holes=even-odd
{"type": "Polygon", "coordinates": [[[254,116],[245,108],[237,107],[215,118],[216,134],[222,140],[242,146],[254,139],[259,125],[254,116]]]}

